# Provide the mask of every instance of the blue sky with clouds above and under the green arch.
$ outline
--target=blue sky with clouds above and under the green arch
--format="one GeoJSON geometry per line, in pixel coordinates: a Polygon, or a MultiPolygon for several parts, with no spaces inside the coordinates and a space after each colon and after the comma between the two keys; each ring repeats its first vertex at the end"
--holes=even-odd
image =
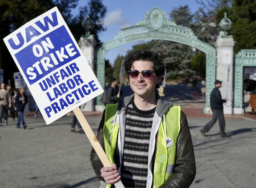
{"type": "MultiPolygon", "coordinates": [[[[80,0],[78,7],[87,5],[87,2],[88,0],[80,0]]],[[[122,27],[133,26],[138,21],[143,20],[147,11],[154,7],[164,10],[167,15],[179,6],[188,5],[192,13],[199,8],[196,0],[103,0],[102,2],[107,7],[104,19],[104,26],[107,27],[107,31],[99,34],[99,39],[103,43],[112,40],[122,27]]],[[[203,0],[203,2],[207,2],[207,0],[203,0]]],[[[78,7],[72,11],[73,15],[78,14],[78,7]]],[[[126,55],[126,51],[132,49],[132,46],[137,43],[129,43],[110,50],[106,53],[106,59],[109,59],[110,63],[113,64],[118,54],[126,55]]]]}

